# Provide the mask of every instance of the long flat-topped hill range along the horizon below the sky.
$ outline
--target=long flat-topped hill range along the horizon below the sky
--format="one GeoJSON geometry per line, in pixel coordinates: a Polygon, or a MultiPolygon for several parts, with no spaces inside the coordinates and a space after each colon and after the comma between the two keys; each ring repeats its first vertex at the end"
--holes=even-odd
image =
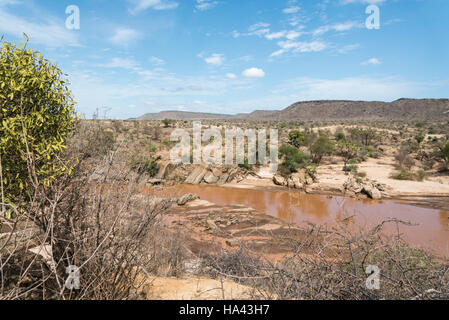
{"type": "Polygon", "coordinates": [[[323,100],[297,102],[281,110],[257,110],[237,115],[164,111],[139,120],[439,120],[449,119],[449,99],[399,99],[393,102],[323,100]]]}

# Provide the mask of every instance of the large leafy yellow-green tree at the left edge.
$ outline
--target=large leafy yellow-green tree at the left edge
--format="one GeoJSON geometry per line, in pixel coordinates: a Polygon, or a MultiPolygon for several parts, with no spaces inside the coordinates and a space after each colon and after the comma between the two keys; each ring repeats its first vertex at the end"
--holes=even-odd
{"type": "Polygon", "coordinates": [[[16,205],[70,172],[60,155],[78,120],[63,73],[27,43],[0,47],[0,200],[16,205]]]}

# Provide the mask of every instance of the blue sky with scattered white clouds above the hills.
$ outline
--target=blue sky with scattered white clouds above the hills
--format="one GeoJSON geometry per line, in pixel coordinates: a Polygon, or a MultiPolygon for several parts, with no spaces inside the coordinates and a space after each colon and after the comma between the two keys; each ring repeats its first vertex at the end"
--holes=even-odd
{"type": "Polygon", "coordinates": [[[86,117],[448,98],[448,30],[447,0],[0,0],[0,34],[26,32],[86,117]]]}

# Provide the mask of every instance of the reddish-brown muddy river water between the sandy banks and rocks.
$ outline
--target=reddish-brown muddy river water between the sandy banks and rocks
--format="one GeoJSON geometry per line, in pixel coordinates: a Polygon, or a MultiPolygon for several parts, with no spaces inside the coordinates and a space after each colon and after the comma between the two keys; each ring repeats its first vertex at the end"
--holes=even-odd
{"type": "Polygon", "coordinates": [[[314,223],[333,226],[346,223],[372,228],[397,219],[412,226],[389,223],[386,234],[402,238],[411,246],[449,258],[449,212],[396,201],[358,200],[337,196],[301,194],[293,191],[239,189],[217,186],[180,185],[176,193],[195,193],[219,205],[245,205],[298,225],[314,223]]]}

